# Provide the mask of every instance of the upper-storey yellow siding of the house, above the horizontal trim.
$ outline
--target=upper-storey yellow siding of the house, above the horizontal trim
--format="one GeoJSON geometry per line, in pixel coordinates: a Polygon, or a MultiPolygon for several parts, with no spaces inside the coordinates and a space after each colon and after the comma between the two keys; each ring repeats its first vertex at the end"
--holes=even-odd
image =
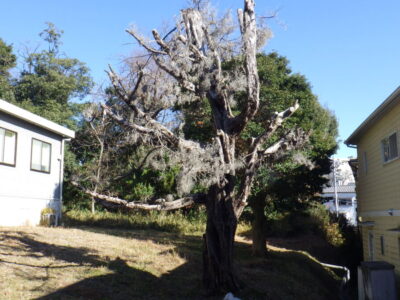
{"type": "Polygon", "coordinates": [[[400,153],[400,105],[377,121],[361,137],[357,148],[360,163],[357,182],[359,213],[400,209],[400,159],[384,163],[381,141],[397,132],[400,153]],[[367,153],[368,170],[365,174],[364,152],[367,153]]]}

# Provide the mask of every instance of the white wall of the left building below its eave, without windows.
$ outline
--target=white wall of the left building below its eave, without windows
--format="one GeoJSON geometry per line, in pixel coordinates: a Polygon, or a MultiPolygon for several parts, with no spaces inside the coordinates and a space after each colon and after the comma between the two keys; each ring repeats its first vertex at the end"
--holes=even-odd
{"type": "Polygon", "coordinates": [[[0,112],[0,127],[17,132],[16,166],[0,164],[0,225],[37,225],[41,211],[60,211],[61,136],[0,112]],[[31,170],[32,138],[51,144],[50,173],[31,170]]]}

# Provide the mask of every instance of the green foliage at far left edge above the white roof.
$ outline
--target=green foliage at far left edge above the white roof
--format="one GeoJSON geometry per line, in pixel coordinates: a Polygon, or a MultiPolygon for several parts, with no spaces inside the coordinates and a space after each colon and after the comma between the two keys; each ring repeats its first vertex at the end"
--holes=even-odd
{"type": "Polygon", "coordinates": [[[14,100],[10,70],[15,67],[16,61],[17,57],[13,54],[12,46],[0,39],[0,99],[14,100]]]}

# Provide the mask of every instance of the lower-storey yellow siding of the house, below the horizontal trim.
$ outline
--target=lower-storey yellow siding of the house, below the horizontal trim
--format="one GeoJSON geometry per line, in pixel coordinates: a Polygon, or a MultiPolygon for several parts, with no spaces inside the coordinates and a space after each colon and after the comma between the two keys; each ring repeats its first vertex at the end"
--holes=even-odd
{"type": "Polygon", "coordinates": [[[400,232],[391,230],[399,227],[400,217],[370,217],[365,218],[365,220],[374,221],[375,224],[369,227],[361,227],[364,260],[370,260],[369,233],[372,233],[374,236],[374,260],[384,260],[393,264],[396,273],[400,275],[400,232]],[[381,236],[384,237],[384,255],[381,254],[381,236]]]}

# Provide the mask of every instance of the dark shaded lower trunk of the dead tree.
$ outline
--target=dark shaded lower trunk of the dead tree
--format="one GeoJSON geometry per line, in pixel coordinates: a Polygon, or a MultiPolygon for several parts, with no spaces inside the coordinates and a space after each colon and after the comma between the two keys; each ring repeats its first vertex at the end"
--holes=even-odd
{"type": "Polygon", "coordinates": [[[223,187],[213,185],[207,196],[207,228],[204,234],[203,283],[209,293],[236,292],[240,286],[233,266],[237,227],[234,212],[233,178],[223,187]]]}

